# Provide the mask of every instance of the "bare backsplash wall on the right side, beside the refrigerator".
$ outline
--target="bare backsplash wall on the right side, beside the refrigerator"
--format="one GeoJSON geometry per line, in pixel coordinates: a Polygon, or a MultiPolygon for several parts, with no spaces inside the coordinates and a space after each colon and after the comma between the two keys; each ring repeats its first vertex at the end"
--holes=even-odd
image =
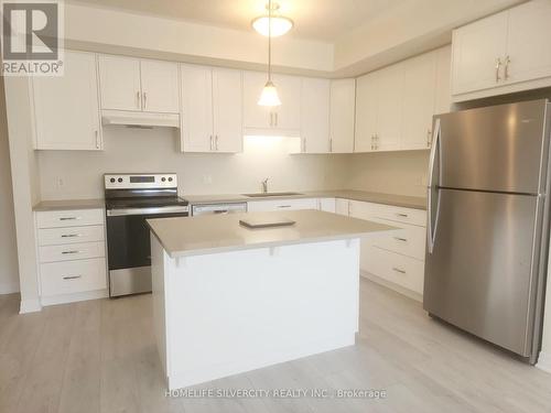
{"type": "Polygon", "coordinates": [[[347,187],[409,196],[425,196],[429,151],[352,155],[347,187]]]}

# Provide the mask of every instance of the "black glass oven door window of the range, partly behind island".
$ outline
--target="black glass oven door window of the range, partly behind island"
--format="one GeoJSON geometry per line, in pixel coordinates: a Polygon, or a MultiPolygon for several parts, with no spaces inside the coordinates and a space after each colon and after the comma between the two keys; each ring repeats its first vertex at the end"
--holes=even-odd
{"type": "Polygon", "coordinates": [[[150,229],[145,219],[187,214],[125,215],[107,217],[109,270],[151,265],[150,229]]]}

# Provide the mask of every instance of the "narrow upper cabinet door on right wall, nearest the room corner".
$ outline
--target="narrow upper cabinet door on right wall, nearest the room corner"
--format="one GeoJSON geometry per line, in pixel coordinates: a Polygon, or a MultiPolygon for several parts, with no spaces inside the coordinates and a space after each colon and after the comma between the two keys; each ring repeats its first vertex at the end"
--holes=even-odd
{"type": "Polygon", "coordinates": [[[356,133],[354,152],[371,152],[377,134],[377,72],[356,80],[356,133]]]}

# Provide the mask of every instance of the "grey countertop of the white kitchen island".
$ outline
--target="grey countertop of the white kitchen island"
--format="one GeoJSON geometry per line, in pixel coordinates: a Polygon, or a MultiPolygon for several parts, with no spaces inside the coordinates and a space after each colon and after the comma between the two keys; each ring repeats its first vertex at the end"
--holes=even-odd
{"type": "Polygon", "coordinates": [[[147,222],[171,258],[350,239],[398,229],[312,209],[158,218],[148,219],[147,222]],[[250,229],[239,224],[246,217],[281,217],[295,224],[250,229]]]}

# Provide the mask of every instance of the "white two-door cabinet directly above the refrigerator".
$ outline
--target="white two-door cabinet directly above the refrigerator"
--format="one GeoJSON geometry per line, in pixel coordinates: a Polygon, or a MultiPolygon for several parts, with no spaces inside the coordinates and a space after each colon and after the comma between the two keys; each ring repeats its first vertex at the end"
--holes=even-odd
{"type": "Polygon", "coordinates": [[[550,21],[551,1],[533,0],[455,30],[453,100],[551,86],[550,21]]]}

